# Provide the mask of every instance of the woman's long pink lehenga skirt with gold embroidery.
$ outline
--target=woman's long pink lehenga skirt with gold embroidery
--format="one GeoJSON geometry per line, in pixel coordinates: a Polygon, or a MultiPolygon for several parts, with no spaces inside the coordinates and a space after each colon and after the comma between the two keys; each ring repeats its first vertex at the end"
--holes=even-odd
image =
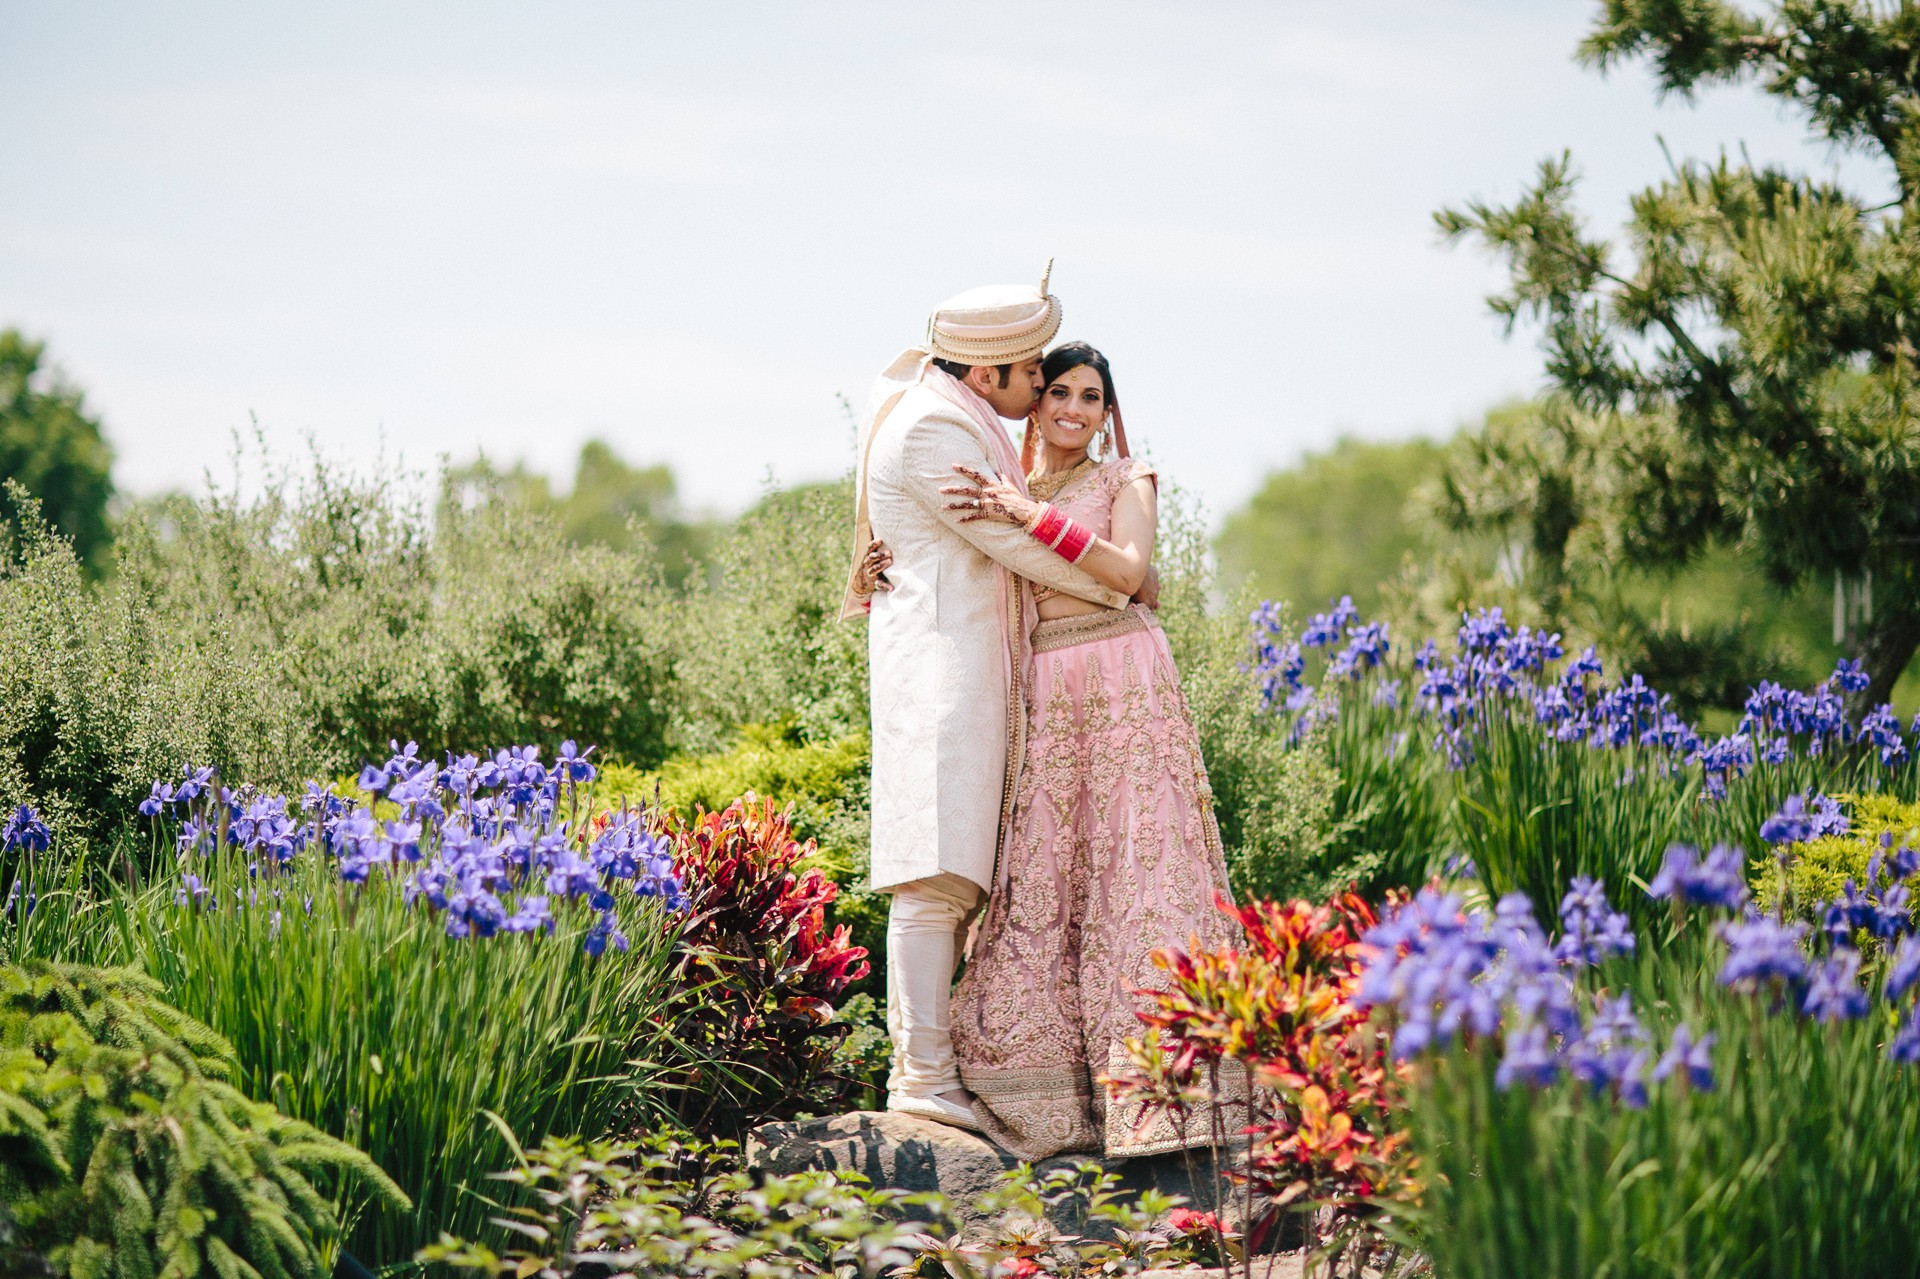
{"type": "Polygon", "coordinates": [[[1213,791],[1154,615],[1041,622],[1027,707],[1012,837],[954,993],[960,1079],[1020,1158],[1206,1145],[1210,1116],[1175,1125],[1096,1083],[1144,1029],[1133,991],[1164,979],[1148,954],[1238,941],[1213,905],[1229,891],[1213,791]]]}

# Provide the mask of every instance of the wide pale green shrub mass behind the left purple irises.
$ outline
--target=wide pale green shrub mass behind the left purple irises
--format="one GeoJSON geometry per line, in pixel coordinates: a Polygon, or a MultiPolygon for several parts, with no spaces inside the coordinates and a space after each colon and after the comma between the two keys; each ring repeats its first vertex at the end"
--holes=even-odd
{"type": "Polygon", "coordinates": [[[136,509],[94,588],[33,513],[0,555],[0,799],[106,841],[184,764],[290,785],[419,741],[666,755],[672,595],[486,488],[438,517],[315,461],[136,509]]]}

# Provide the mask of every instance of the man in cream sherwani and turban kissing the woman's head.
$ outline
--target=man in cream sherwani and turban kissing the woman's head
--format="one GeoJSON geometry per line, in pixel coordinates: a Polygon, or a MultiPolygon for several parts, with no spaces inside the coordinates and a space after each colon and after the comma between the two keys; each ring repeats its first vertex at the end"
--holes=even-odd
{"type": "Polygon", "coordinates": [[[1060,300],[1008,284],[950,298],[925,348],[879,376],[862,432],[854,580],[841,616],[868,615],[874,707],[874,887],[887,918],[887,1110],[977,1127],[954,1066],[947,1002],[968,922],[993,887],[1025,743],[1031,599],[1021,578],[1108,605],[1127,599],[1025,530],[966,520],[941,490],[954,463],[1021,488],[1000,419],[1041,396],[1060,300]],[[874,538],[893,565],[858,591],[874,538]]]}

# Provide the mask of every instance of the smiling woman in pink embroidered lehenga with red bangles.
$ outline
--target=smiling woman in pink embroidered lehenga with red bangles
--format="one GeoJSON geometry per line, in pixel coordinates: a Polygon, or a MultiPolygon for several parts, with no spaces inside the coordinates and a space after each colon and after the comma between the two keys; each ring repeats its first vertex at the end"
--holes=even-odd
{"type": "MultiPolygon", "coordinates": [[[[1158,524],[1152,467],[1127,455],[1106,357],[1068,342],[1041,367],[1025,492],[956,467],[962,519],[1021,524],[1133,595],[1158,524]],[[1110,442],[1094,455],[1096,440],[1110,442]],[[1114,447],[1117,446],[1117,447],[1114,447]]],[[[885,549],[870,561],[887,565],[885,549]]],[[[1033,588],[1027,749],[993,893],[954,993],[952,1037],[973,1114],[1006,1150],[1154,1154],[1206,1145],[1162,1114],[1110,1104],[1139,1033],[1148,954],[1236,941],[1213,906],[1227,868],[1213,793],[1167,638],[1144,605],[1104,609],[1033,588]],[[1144,1120],[1144,1122],[1142,1122],[1144,1120]]]]}

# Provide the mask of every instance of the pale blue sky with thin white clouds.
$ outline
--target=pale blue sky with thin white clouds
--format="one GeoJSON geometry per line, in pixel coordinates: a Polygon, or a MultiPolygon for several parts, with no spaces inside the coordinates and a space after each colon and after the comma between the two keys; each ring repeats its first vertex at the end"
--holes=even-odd
{"type": "Polygon", "coordinates": [[[1215,517],[1338,434],[1538,382],[1430,213],[1572,148],[1613,225],[1678,156],[1836,161],[1757,90],[1657,106],[1588,0],[0,0],[0,325],[132,492],[275,447],[570,474],[589,436],[737,509],[852,457],[925,311],[1054,255],[1064,336],[1215,517]]]}

